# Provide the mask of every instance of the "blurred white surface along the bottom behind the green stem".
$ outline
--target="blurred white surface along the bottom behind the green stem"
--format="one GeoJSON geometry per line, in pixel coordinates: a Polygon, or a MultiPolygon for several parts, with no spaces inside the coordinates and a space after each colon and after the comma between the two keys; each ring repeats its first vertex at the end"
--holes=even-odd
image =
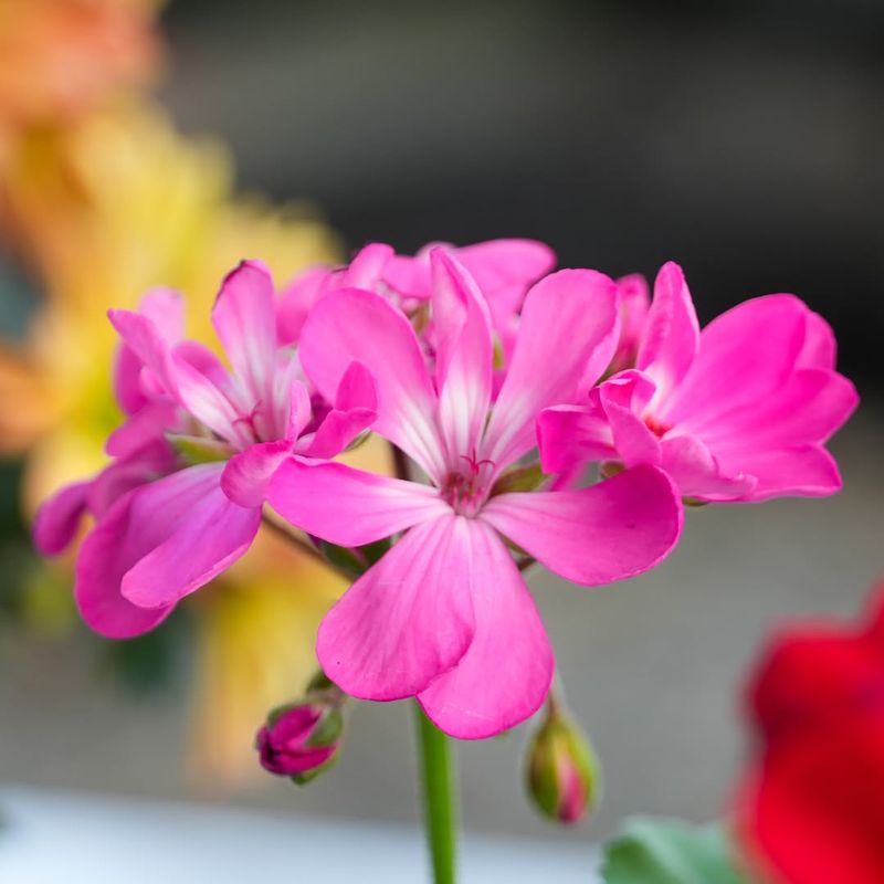
{"type": "MultiPolygon", "coordinates": [[[[3,884],[419,884],[420,832],[198,804],[0,788],[3,884]]],[[[464,884],[591,884],[589,846],[471,838],[464,884]]]]}

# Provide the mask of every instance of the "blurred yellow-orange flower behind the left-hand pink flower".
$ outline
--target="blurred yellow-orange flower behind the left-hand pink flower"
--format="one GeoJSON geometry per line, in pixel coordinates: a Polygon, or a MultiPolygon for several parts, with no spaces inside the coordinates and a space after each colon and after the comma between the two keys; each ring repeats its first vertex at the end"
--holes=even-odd
{"type": "MultiPolygon", "coordinates": [[[[212,301],[241,259],[261,257],[283,283],[333,261],[337,242],[304,208],[234,197],[224,150],[182,138],[149,104],[129,101],[35,131],[20,147],[0,169],[0,191],[8,229],[45,299],[28,339],[0,349],[0,446],[27,452],[32,513],[50,492],[103,464],[104,439],[120,420],[108,307],[172,286],[187,297],[189,336],[212,343],[212,301]]],[[[380,445],[358,456],[386,466],[380,445]]],[[[257,770],[254,729],[303,688],[319,619],[343,589],[339,578],[262,538],[193,598],[200,641],[190,755],[203,778],[230,782],[257,770]]]]}

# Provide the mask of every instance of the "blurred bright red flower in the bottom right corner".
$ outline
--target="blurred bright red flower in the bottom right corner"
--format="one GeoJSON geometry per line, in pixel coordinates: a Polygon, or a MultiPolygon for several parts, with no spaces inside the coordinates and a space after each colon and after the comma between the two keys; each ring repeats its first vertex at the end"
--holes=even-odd
{"type": "Polygon", "coordinates": [[[884,585],[859,625],[781,633],[747,697],[759,738],[738,827],[794,884],[884,882],[884,585]]]}

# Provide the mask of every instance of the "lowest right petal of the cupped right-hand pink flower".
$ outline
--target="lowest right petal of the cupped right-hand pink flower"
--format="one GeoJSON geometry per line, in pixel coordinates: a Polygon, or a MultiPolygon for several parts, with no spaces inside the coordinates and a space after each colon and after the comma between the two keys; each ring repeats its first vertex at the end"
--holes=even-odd
{"type": "Polygon", "coordinates": [[[796,495],[825,497],[841,490],[841,475],[834,457],[819,444],[748,452],[732,460],[718,457],[725,470],[743,470],[757,478],[755,488],[741,499],[766,501],[796,495]]]}

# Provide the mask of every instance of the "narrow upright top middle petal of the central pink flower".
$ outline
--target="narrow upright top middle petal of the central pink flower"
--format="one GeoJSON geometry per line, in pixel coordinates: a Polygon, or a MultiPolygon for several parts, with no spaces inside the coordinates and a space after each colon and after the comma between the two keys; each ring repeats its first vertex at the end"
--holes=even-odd
{"type": "Polygon", "coordinates": [[[442,249],[430,253],[436,348],[439,424],[449,460],[474,454],[491,404],[488,306],[476,284],[442,249]]]}

